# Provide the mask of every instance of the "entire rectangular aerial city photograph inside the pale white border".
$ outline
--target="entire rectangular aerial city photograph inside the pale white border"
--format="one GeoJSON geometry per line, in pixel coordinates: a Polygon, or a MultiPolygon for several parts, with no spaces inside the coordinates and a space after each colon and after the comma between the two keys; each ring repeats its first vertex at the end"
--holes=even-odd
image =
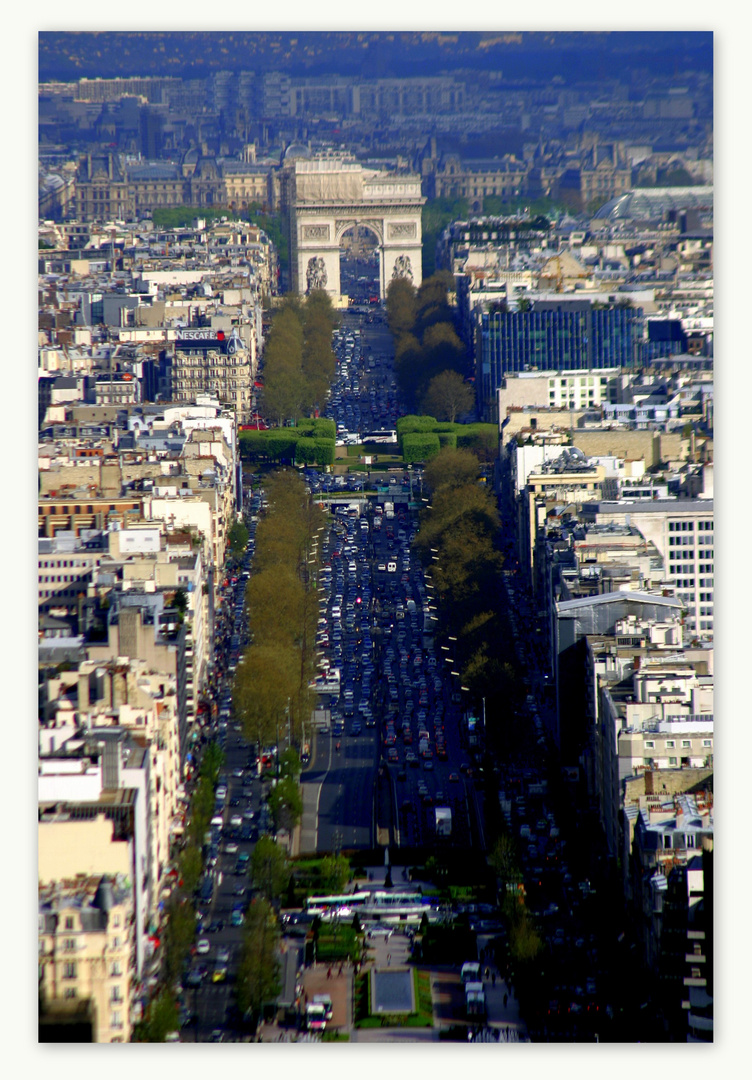
{"type": "Polygon", "coordinates": [[[39,33],[40,1042],[713,1041],[712,51],[39,33]]]}

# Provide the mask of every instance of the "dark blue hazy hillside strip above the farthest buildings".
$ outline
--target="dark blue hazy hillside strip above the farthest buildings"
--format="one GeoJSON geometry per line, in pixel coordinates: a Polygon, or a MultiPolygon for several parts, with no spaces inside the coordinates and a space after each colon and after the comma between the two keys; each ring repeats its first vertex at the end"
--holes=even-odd
{"type": "Polygon", "coordinates": [[[285,71],[404,78],[500,70],[527,84],[712,73],[707,31],[42,31],[39,81],[285,71]]]}

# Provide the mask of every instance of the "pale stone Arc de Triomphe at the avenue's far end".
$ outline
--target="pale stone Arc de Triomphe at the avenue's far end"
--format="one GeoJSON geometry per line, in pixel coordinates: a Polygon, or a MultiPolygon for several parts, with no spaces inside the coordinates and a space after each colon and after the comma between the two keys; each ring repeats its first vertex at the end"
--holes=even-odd
{"type": "Polygon", "coordinates": [[[381,299],[394,276],[420,285],[420,208],[426,200],[419,176],[331,158],[297,159],[287,198],[294,292],[325,288],[339,295],[339,243],[352,226],[376,235],[381,299]]]}

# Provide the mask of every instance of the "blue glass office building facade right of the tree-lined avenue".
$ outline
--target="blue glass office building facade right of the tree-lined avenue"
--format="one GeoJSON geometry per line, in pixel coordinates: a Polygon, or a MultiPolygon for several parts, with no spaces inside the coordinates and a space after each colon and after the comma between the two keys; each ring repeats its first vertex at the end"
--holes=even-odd
{"type": "Polygon", "coordinates": [[[492,311],[475,327],[475,386],[483,415],[505,375],[639,367],[643,362],[641,308],[594,308],[587,301],[492,311]]]}

